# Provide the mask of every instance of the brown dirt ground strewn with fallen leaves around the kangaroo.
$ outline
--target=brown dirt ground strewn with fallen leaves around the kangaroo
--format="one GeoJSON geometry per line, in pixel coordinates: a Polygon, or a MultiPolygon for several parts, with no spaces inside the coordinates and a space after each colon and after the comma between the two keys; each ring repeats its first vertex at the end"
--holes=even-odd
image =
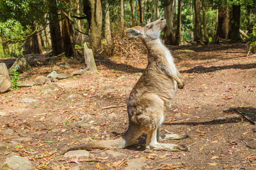
{"type": "MultiPolygon", "coordinates": [[[[186,86],[177,90],[161,134],[189,138],[162,142],[186,145],[189,152],[145,150],[144,134],[129,148],[113,150],[124,153],[118,157],[106,150],[91,150],[88,159],[80,160],[58,154],[79,143],[118,138],[127,129],[124,105],[138,72],[147,65],[146,55],[129,55],[98,57],[99,73],[0,94],[0,112],[6,113],[0,116],[0,142],[9,143],[0,153],[0,164],[15,152],[31,160],[35,169],[124,169],[134,158],[143,158],[144,169],[256,169],[256,55],[246,57],[244,44],[170,50],[186,86]],[[52,88],[53,94],[45,92],[52,88]],[[22,103],[24,98],[37,101],[22,103]],[[113,105],[120,107],[104,108],[113,105]],[[83,115],[92,115],[91,127],[77,126],[83,115]]],[[[68,63],[71,68],[57,72],[84,67],[68,63]]],[[[34,67],[20,76],[33,81],[51,73],[52,66],[34,67]]]]}

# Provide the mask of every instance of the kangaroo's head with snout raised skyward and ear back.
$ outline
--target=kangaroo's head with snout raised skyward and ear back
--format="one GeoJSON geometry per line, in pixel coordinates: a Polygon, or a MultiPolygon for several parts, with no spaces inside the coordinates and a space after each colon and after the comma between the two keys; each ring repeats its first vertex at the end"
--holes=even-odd
{"type": "Polygon", "coordinates": [[[132,37],[141,38],[143,41],[152,41],[154,39],[159,39],[161,30],[165,27],[166,20],[160,18],[154,22],[150,22],[144,27],[136,26],[126,29],[125,32],[132,37]]]}

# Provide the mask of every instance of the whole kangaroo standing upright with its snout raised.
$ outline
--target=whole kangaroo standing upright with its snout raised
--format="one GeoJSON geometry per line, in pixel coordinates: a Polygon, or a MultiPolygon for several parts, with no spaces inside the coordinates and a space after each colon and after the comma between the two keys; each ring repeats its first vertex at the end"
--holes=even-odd
{"type": "Polygon", "coordinates": [[[161,43],[160,34],[166,20],[160,18],[144,27],[126,29],[132,37],[142,39],[148,50],[148,65],[131,90],[127,100],[129,127],[124,135],[115,140],[96,141],[68,149],[88,150],[93,148],[125,148],[132,145],[143,132],[147,133],[146,148],[151,150],[188,150],[186,146],[172,143],[158,143],[166,139],[183,139],[180,134],[159,135],[159,127],[164,122],[164,112],[170,108],[177,86],[182,89],[183,80],[173,62],[169,50],[161,43]]]}

